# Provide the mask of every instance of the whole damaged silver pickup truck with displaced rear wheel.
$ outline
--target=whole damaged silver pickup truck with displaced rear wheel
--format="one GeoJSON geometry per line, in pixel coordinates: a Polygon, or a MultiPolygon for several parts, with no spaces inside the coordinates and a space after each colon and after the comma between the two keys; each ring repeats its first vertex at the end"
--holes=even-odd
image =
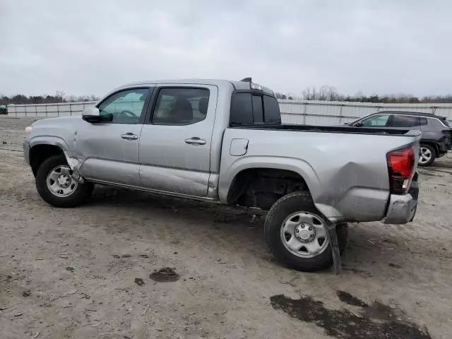
{"type": "Polygon", "coordinates": [[[347,222],[403,224],[417,206],[420,131],[281,124],[273,91],[249,79],[133,83],[25,131],[52,206],[105,184],[256,208],[275,257],[298,270],[331,266],[347,222]]]}

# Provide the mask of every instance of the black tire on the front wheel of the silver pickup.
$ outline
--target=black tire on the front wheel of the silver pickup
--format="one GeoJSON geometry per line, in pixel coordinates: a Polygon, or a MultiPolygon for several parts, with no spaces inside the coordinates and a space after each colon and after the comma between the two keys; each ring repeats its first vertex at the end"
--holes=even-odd
{"type": "MultiPolygon", "coordinates": [[[[84,203],[93,193],[94,185],[85,182],[78,183],[75,182],[69,174],[64,174],[64,172],[71,173],[68,163],[66,162],[66,157],[64,155],[52,155],[48,157],[40,167],[37,169],[36,173],[36,188],[37,192],[40,194],[41,198],[52,206],[62,207],[62,208],[71,208],[80,206],[84,203]],[[64,176],[64,179],[69,182],[69,191],[70,194],[66,194],[63,192],[66,188],[61,188],[61,194],[57,194],[52,189],[49,182],[52,182],[52,179],[49,179],[51,174],[58,174],[57,171],[60,170],[60,176],[64,176]],[[73,188],[71,188],[73,187],[73,188]]],[[[58,182],[54,182],[54,184],[58,184],[58,182]]],[[[66,184],[66,183],[65,183],[66,184]]],[[[59,186],[57,186],[57,189],[59,186]]],[[[57,190],[55,189],[55,190],[57,190]]]]}

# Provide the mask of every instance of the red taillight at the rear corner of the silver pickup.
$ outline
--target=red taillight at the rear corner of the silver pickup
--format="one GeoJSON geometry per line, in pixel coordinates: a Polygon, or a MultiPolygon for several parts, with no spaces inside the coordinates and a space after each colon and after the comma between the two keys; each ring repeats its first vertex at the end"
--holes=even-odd
{"type": "Polygon", "coordinates": [[[405,194],[410,189],[415,174],[415,148],[413,146],[392,150],[386,154],[389,186],[393,194],[405,194]]]}

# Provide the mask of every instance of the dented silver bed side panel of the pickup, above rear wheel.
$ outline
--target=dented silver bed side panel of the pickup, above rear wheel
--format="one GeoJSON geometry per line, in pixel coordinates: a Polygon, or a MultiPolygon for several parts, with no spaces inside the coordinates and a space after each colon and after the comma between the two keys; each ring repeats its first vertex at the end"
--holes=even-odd
{"type": "Polygon", "coordinates": [[[411,137],[278,131],[265,129],[227,129],[223,148],[240,136],[249,139],[241,157],[222,153],[220,200],[226,201],[232,179],[246,168],[288,169],[307,183],[316,207],[331,219],[347,221],[381,220],[389,199],[386,153],[415,143],[411,137]]]}

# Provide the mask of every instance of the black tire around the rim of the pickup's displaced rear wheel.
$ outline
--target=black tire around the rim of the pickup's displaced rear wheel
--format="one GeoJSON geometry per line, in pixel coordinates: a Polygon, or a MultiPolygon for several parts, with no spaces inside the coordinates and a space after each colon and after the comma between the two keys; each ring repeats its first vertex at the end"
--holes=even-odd
{"type": "MultiPolygon", "coordinates": [[[[275,258],[280,263],[283,263],[283,265],[289,268],[302,270],[304,272],[314,272],[330,267],[333,264],[333,254],[331,250],[331,244],[329,244],[328,240],[326,240],[328,238],[323,240],[327,243],[323,243],[321,245],[323,246],[323,250],[319,250],[318,254],[304,254],[299,250],[297,252],[298,255],[295,255],[293,249],[291,251],[287,248],[287,240],[286,244],[283,240],[283,237],[286,237],[287,234],[283,233],[283,227],[287,220],[294,218],[290,217],[291,215],[295,215],[295,218],[297,218],[298,215],[315,215],[314,220],[323,220],[326,227],[326,222],[323,218],[323,215],[314,206],[314,202],[312,201],[311,195],[308,192],[299,191],[288,194],[287,196],[283,196],[283,198],[280,198],[278,201],[276,201],[276,203],[268,212],[264,227],[266,242],[270,247],[270,250],[273,252],[275,258]]],[[[300,225],[303,225],[304,227],[305,224],[300,225]]],[[[313,225],[313,227],[310,227],[309,229],[314,228],[315,230],[317,230],[317,227],[321,226],[313,225]]],[[[302,232],[306,231],[302,230],[302,232]]],[[[328,232],[328,230],[326,230],[326,232],[328,232]]],[[[348,242],[347,223],[336,226],[336,232],[338,234],[340,254],[343,254],[343,251],[345,251],[345,247],[347,246],[348,242]]],[[[317,232],[317,234],[314,236],[314,240],[312,241],[313,243],[317,242],[314,246],[320,246],[318,244],[320,243],[321,239],[317,239],[318,234],[319,232],[317,232]]],[[[304,244],[302,244],[302,247],[303,246],[304,244]]]]}

